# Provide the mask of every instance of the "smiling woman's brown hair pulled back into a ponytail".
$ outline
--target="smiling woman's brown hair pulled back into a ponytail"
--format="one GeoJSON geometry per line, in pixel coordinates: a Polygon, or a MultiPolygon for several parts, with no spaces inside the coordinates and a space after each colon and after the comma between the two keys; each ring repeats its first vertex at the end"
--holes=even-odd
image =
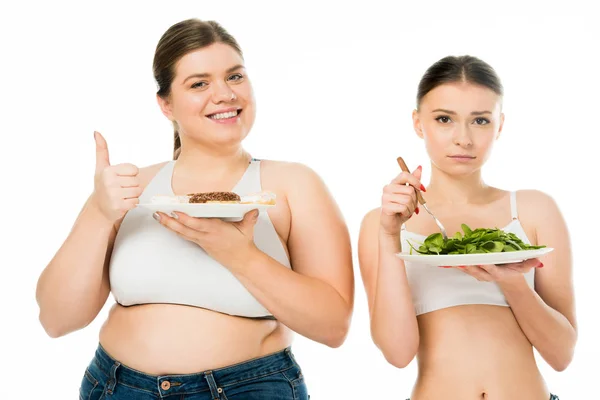
{"type": "MultiPolygon", "coordinates": [[[[231,46],[243,58],[237,41],[215,21],[188,19],[171,26],[162,35],[154,52],[153,72],[158,85],[156,93],[163,99],[171,95],[171,84],[175,78],[175,65],[187,53],[208,47],[214,43],[231,46]]],[[[181,152],[181,139],[177,123],[173,122],[174,140],[173,159],[181,152]]]]}

